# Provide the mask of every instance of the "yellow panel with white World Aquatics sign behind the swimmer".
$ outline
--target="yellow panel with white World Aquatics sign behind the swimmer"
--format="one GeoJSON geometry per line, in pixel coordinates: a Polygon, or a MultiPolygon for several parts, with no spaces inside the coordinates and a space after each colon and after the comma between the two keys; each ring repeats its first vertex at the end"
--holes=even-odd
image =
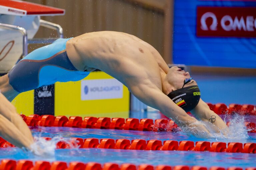
{"type": "MultiPolygon", "coordinates": [[[[115,84],[111,87],[104,87],[105,82],[109,81],[115,82],[115,79],[102,71],[94,71],[85,79],[77,82],[55,83],[55,116],[128,118],[130,109],[130,93],[128,88],[124,85],[122,85],[122,87],[120,87],[120,85],[115,86],[115,84]],[[103,87],[101,87],[100,84],[98,84],[97,87],[85,87],[86,85],[83,84],[86,84],[87,80],[97,80],[95,82],[102,82],[103,87]],[[87,92],[86,90],[91,90],[92,92],[85,94],[87,92]],[[115,90],[118,91],[118,93],[115,93],[115,90]],[[104,92],[113,95],[106,96],[105,94],[104,96],[104,92]],[[122,94],[120,94],[120,92],[122,92],[122,94]],[[96,95],[96,99],[86,99],[89,95],[93,97],[93,94],[96,95]],[[97,99],[97,95],[99,98],[105,99],[97,99]],[[117,95],[117,98],[115,98],[115,95],[117,95]]],[[[34,90],[21,93],[12,101],[12,103],[17,108],[18,113],[24,115],[34,114],[34,90]]]]}

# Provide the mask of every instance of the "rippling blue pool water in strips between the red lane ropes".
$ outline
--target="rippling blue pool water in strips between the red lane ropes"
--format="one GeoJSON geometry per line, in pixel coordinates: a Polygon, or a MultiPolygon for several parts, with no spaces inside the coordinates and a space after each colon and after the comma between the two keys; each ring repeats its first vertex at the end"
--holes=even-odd
{"type": "MultiPolygon", "coordinates": [[[[248,133],[247,138],[240,136],[234,138],[208,138],[200,139],[188,136],[183,132],[150,132],[115,129],[89,129],[67,127],[38,127],[32,129],[34,136],[64,138],[113,138],[113,139],[159,139],[159,140],[192,140],[192,141],[223,141],[223,142],[256,142],[256,134],[248,133]]],[[[256,165],[256,154],[248,153],[225,153],[225,152],[196,152],[196,151],[153,151],[153,150],[122,150],[122,149],[98,149],[98,148],[74,148],[56,149],[54,154],[36,156],[24,152],[20,148],[0,148],[0,159],[14,160],[29,159],[32,161],[81,161],[81,162],[114,162],[118,164],[133,163],[151,165],[200,165],[200,166],[238,166],[253,167],[256,165]]]]}

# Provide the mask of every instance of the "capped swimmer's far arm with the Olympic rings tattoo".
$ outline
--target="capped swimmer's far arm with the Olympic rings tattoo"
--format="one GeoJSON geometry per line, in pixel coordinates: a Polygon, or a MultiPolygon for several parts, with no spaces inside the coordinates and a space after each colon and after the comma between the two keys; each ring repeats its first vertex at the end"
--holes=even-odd
{"type": "Polygon", "coordinates": [[[210,110],[209,106],[202,99],[200,99],[199,103],[191,113],[196,119],[215,125],[213,129],[216,132],[220,132],[220,130],[224,134],[228,132],[225,122],[216,113],[210,110]]]}

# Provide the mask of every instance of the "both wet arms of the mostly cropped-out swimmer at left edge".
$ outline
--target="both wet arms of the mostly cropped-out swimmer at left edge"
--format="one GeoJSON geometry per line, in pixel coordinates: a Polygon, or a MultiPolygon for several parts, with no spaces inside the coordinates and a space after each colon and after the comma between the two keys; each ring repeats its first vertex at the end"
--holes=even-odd
{"type": "Polygon", "coordinates": [[[30,149],[33,137],[30,129],[16,112],[15,107],[0,91],[0,137],[17,147],[30,149]]]}

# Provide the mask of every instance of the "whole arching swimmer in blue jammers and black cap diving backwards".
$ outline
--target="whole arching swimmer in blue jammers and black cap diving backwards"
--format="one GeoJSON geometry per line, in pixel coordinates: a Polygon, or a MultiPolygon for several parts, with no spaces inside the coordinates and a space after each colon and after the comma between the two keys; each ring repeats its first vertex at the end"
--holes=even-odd
{"type": "Polygon", "coordinates": [[[188,127],[190,134],[211,136],[198,120],[214,125],[215,132],[227,128],[200,99],[189,72],[169,68],[153,46],[121,32],[87,33],[38,48],[0,78],[0,90],[11,101],[19,93],[57,81],[81,80],[95,69],[119,80],[140,101],[160,110],[179,127],[188,127]],[[196,119],[186,113],[189,111],[196,119]]]}

